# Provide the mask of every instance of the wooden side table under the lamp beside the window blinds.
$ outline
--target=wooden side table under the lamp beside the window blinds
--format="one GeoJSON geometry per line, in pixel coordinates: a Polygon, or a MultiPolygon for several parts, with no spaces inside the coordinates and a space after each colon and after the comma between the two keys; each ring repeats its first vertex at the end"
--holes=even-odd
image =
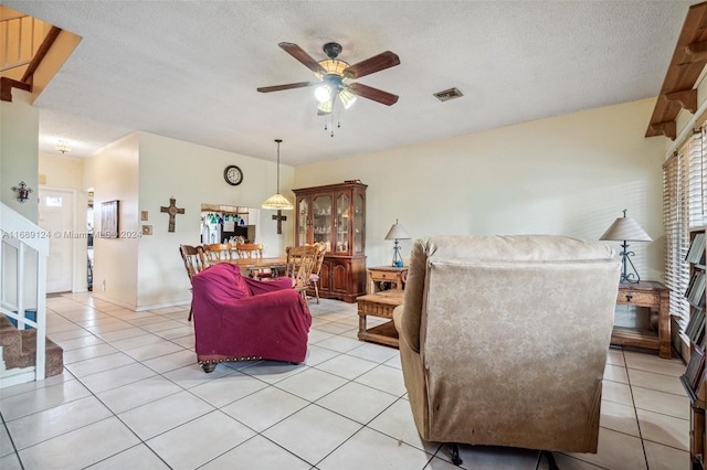
{"type": "Polygon", "coordinates": [[[657,331],[614,327],[611,334],[611,344],[655,350],[661,357],[671,359],[673,353],[671,348],[671,317],[668,313],[669,293],[671,289],[661,282],[648,280],[639,284],[620,284],[616,303],[647,307],[652,312],[657,311],[657,331]]]}

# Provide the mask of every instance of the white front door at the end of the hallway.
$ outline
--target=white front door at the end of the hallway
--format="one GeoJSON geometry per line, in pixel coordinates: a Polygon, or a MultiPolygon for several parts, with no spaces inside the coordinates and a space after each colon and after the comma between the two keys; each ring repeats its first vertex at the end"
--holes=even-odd
{"type": "Polygon", "coordinates": [[[72,290],[74,273],[74,194],[71,191],[40,189],[39,226],[50,234],[46,261],[46,291],[72,290]]]}

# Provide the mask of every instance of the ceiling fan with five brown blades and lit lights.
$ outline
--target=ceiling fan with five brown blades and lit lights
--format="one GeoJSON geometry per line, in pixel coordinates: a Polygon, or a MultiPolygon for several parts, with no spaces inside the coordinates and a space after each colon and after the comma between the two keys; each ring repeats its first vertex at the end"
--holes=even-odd
{"type": "Polygon", "coordinates": [[[329,58],[325,58],[323,61],[314,60],[297,44],[281,42],[277,45],[299,61],[305,67],[314,72],[315,76],[319,81],[265,86],[257,88],[261,93],[317,86],[315,96],[319,102],[319,106],[317,107],[318,115],[330,114],[334,109],[337,96],[345,109],[348,109],[354,104],[357,96],[372,99],[373,102],[378,102],[387,106],[394,105],[398,102],[398,95],[393,95],[392,93],[383,92],[382,89],[373,88],[372,86],[363,85],[361,83],[346,82],[351,78],[360,78],[399,65],[400,58],[390,51],[381,52],[380,54],[357,64],[349,65],[348,63],[337,58],[341,53],[342,47],[340,44],[335,42],[329,42],[324,45],[323,50],[329,58]]]}

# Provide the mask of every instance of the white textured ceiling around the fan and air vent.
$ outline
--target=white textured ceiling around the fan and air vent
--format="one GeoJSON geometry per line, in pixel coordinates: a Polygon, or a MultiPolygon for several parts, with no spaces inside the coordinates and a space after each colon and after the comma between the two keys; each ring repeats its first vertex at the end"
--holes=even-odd
{"type": "MultiPolygon", "coordinates": [[[[143,130],[300,164],[374,152],[656,96],[685,1],[7,1],[83,38],[35,102],[40,150],[87,157],[143,130]],[[277,46],[357,63],[383,51],[401,65],[360,78],[394,93],[335,111],[277,46]],[[433,93],[464,96],[440,103],[433,93]]],[[[650,116],[646,116],[646,125],[650,116]]]]}

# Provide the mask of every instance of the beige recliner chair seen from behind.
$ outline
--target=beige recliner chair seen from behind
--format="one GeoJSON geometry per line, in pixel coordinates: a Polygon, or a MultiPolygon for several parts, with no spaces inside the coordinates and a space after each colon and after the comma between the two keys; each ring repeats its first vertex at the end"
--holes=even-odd
{"type": "Polygon", "coordinates": [[[416,241],[393,317],[420,436],[452,442],[457,464],[457,442],[597,452],[613,253],[552,235],[416,241]]]}

